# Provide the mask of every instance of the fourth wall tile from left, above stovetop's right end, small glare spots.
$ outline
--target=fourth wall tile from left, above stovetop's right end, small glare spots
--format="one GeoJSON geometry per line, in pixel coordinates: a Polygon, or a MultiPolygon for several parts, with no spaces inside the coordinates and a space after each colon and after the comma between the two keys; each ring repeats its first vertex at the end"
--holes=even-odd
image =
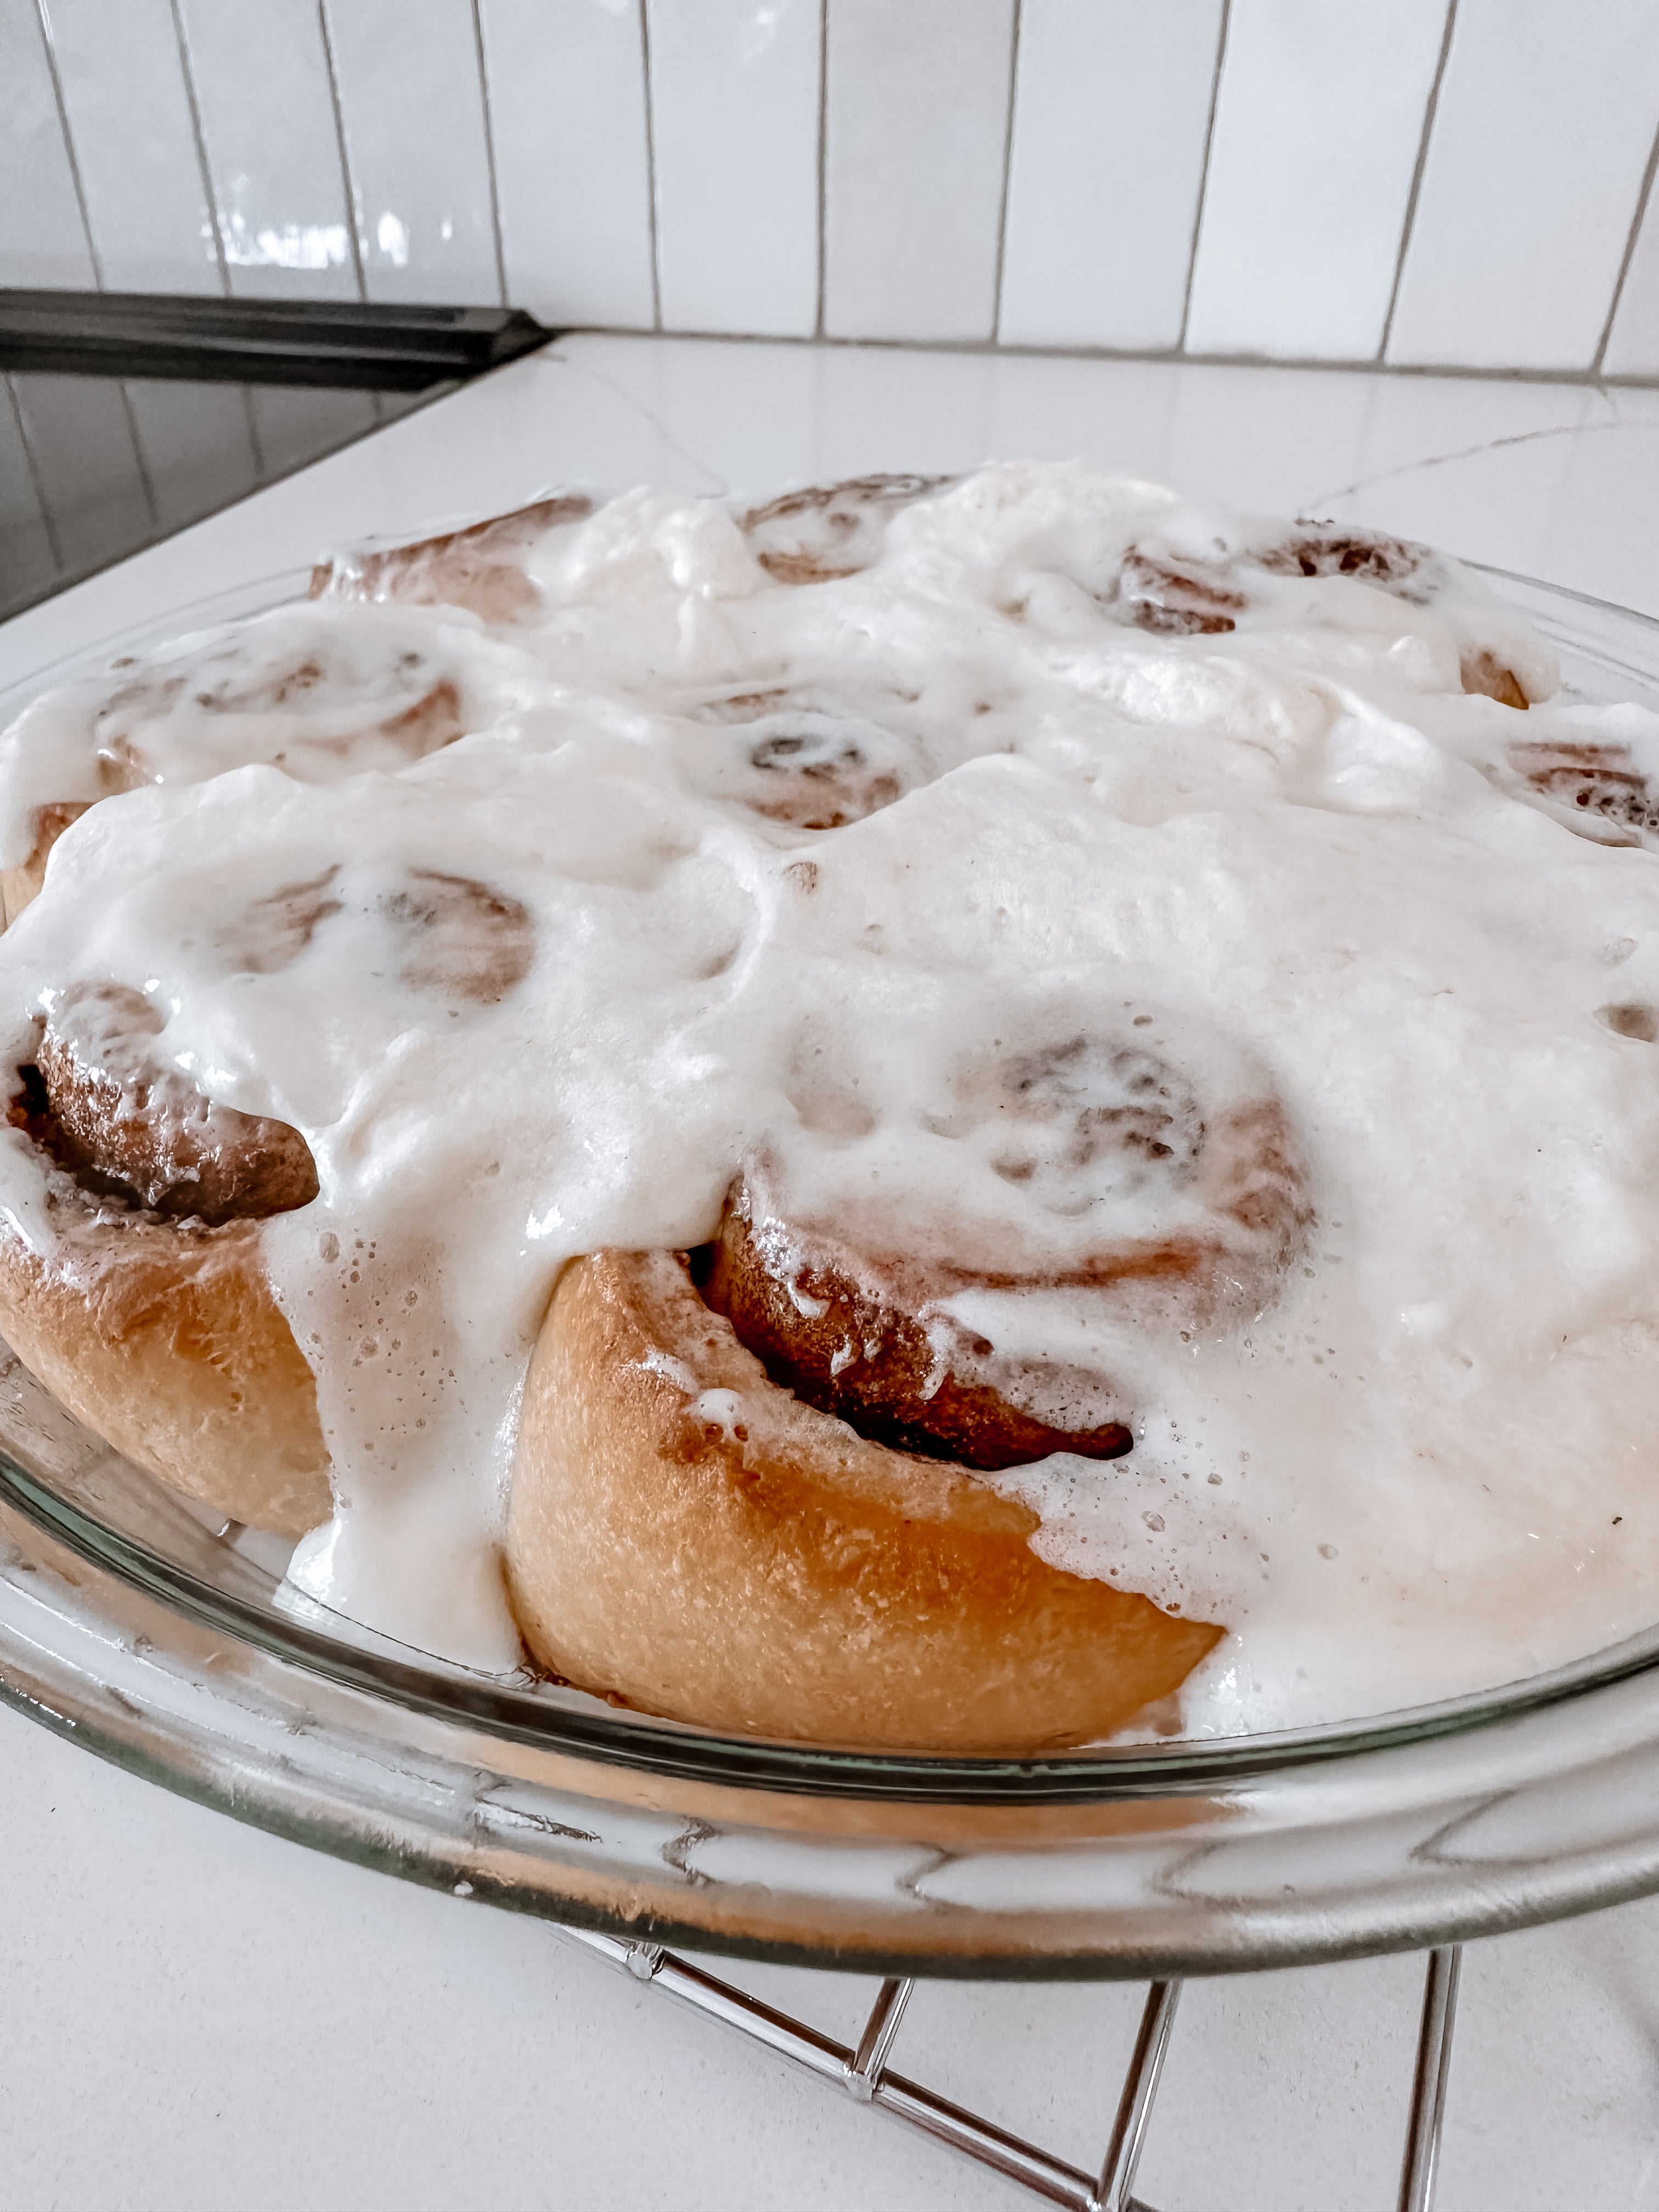
{"type": "Polygon", "coordinates": [[[471,0],[327,0],[369,299],[500,301],[471,0]]]}

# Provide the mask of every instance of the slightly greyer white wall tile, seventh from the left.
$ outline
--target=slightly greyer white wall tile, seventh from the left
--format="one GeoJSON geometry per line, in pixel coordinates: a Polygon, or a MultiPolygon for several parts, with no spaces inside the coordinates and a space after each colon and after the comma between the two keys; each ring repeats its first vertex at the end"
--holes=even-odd
{"type": "Polygon", "coordinates": [[[989,338],[1013,0],[830,0],[825,330],[989,338]]]}

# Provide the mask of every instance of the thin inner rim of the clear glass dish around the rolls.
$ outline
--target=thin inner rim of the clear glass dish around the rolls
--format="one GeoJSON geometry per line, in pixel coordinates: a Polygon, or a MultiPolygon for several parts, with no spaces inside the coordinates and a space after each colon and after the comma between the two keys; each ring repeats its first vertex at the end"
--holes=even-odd
{"type": "MultiPolygon", "coordinates": [[[[1467,562],[1467,566],[1491,577],[1500,588],[1509,586],[1522,597],[1542,599],[1544,606],[1579,608],[1584,615],[1610,622],[1617,630],[1650,633],[1659,646],[1659,617],[1639,608],[1484,562],[1467,562]]],[[[166,644],[215,622],[292,604],[305,595],[310,580],[310,568],[281,571],[128,624],[119,633],[102,635],[64,655],[53,655],[40,668],[0,688],[0,723],[9,721],[44,686],[91,672],[128,646],[166,644]]],[[[1630,675],[1632,679],[1646,677],[1650,684],[1659,679],[1659,670],[1632,668],[1630,675]]],[[[411,1652],[409,1661],[403,1661],[365,1650],[292,1615],[263,1613],[234,1593],[215,1590],[188,1568],[58,1495],[2,1442],[0,1504],[13,1506],[71,1553],[111,1571],[124,1584],[159,1599],[186,1619],[230,1635],[303,1674],[363,1692],[387,1708],[460,1721],[504,1743],[566,1754],[595,1765],[692,1783],[785,1790],[799,1796],[962,1805],[1188,1796],[1201,1790],[1290,1776],[1305,1767],[1367,1752],[1469,1734],[1522,1714],[1566,1705],[1659,1670],[1659,1621],[1655,1621],[1652,1628],[1617,1646],[1588,1652],[1540,1674],[1429,1705],[1305,1730],[1133,1745],[1106,1743],[1022,1759],[867,1752],[759,1736],[723,1736],[650,1714],[604,1710],[597,1708],[597,1701],[584,1701],[582,1710],[573,1710],[553,1703],[540,1690],[518,1688],[511,1679],[473,1674],[429,1655],[411,1652]]]]}

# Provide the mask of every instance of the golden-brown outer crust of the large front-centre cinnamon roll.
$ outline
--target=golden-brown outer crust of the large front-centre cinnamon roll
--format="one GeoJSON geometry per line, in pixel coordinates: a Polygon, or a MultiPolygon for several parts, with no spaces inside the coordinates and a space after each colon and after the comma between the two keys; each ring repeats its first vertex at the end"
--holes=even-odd
{"type": "Polygon", "coordinates": [[[566,1681],[796,1741],[1088,1743],[1175,1692],[1221,1630],[1044,1564],[1035,1528],[967,1471],[776,1389],[679,1254],[566,1267],[507,1542],[520,1628],[566,1681]]]}

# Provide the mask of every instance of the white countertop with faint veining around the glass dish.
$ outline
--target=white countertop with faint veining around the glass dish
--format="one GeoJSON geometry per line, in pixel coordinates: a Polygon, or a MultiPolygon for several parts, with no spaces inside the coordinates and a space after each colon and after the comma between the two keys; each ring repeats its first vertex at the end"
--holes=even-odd
{"type": "MultiPolygon", "coordinates": [[[[1086,453],[1659,615],[1659,394],[571,338],[0,628],[0,684],[341,538],[557,480],[1086,453]]],[[[1018,2205],[551,1929],[232,1825],[0,1712],[7,2212],[1018,2205]]],[[[849,2037],[874,1984],[732,1966],[849,2037]]],[[[1420,1960],[1192,1984],[1137,2194],[1394,2205],[1420,1960]]],[[[1095,2166],[1139,1989],[927,1984],[894,2064],[1095,2166]]],[[[1659,2205],[1659,1902],[1471,1947],[1440,2212],[1659,2205]]]]}

